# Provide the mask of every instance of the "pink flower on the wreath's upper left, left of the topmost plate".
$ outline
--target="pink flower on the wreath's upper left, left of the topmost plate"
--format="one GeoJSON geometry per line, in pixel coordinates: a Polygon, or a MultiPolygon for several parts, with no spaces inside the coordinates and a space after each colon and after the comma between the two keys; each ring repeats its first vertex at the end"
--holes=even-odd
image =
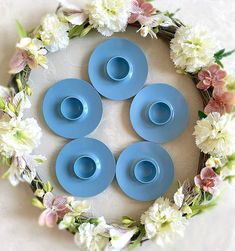
{"type": "Polygon", "coordinates": [[[11,74],[16,74],[24,70],[25,66],[28,65],[31,69],[37,67],[37,62],[34,57],[30,57],[25,50],[17,49],[10,61],[11,74]]]}

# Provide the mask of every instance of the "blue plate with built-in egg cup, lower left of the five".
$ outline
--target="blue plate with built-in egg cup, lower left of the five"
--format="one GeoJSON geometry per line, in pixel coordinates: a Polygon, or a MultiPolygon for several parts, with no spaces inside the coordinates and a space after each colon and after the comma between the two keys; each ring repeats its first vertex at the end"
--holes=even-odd
{"type": "Polygon", "coordinates": [[[56,160],[56,176],[68,193],[78,197],[103,192],[115,175],[115,159],[102,142],[76,139],[66,144],[56,160]]]}

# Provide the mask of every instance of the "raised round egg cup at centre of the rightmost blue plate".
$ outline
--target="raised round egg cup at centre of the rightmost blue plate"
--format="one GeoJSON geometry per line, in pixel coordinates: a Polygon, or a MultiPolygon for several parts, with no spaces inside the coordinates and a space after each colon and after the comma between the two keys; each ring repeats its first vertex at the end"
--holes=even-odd
{"type": "Polygon", "coordinates": [[[158,126],[165,125],[174,117],[172,106],[165,101],[157,101],[147,107],[149,120],[158,126]]]}

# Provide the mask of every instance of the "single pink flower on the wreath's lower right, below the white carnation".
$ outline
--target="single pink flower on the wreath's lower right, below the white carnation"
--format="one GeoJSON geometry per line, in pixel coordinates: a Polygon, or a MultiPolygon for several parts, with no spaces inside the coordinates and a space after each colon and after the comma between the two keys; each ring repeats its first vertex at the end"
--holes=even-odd
{"type": "Polygon", "coordinates": [[[218,191],[219,177],[212,168],[203,168],[201,173],[194,178],[194,182],[197,187],[210,194],[215,194],[218,191]]]}

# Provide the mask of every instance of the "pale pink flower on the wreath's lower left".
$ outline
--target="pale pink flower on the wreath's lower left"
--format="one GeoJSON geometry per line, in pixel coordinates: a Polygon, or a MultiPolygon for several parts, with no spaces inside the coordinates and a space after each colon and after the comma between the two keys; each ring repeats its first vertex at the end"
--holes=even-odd
{"type": "Polygon", "coordinates": [[[39,216],[40,226],[53,227],[58,218],[63,219],[64,215],[70,212],[68,208],[68,198],[66,196],[55,197],[52,193],[46,193],[43,198],[45,210],[39,216]]]}

